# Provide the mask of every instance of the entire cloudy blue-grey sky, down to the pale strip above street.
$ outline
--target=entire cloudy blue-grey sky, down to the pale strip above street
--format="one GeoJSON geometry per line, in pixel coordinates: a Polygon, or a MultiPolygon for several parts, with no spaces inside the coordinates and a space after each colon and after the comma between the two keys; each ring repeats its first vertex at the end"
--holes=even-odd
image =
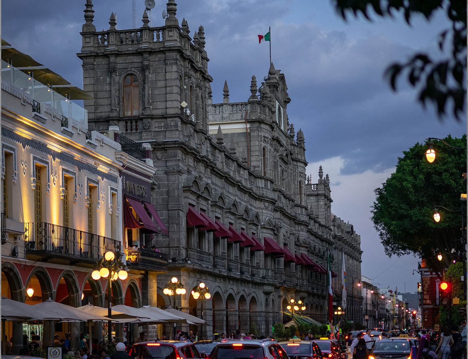
{"type": "MultiPolygon", "coordinates": [[[[80,30],[85,0],[3,0],[1,36],[15,48],[82,85],[80,30]]],[[[155,0],[153,26],[162,26],[166,1],[155,0]]],[[[362,274],[382,287],[416,291],[417,268],[412,256],[388,258],[369,220],[373,190],[394,171],[397,157],[427,137],[460,137],[466,120],[416,103],[417,93],[400,83],[393,93],[382,74],[388,64],[405,61],[416,51],[437,54],[438,33],[449,26],[443,14],[429,24],[401,17],[344,22],[328,0],[176,0],[179,22],[185,18],[191,35],[205,28],[208,69],[213,77],[213,102],[222,101],[227,80],[231,102],[246,101],[250,78],[262,79],[269,68],[269,44],[258,34],[271,26],[272,62],[286,78],[292,102],[290,123],[306,138],[307,173],[314,181],[318,167],[330,176],[332,211],[361,235],[362,274]]],[[[132,28],[132,0],[95,0],[96,29],[109,29],[110,13],[117,29],[132,28]]],[[[136,1],[141,26],[144,1],[136,1]]],[[[462,116],[466,118],[465,116],[462,116]]]]}

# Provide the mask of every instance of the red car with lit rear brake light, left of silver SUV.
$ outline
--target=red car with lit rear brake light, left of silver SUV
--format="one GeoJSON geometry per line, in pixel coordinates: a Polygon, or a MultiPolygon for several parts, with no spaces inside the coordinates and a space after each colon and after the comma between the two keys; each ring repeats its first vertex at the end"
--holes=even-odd
{"type": "Polygon", "coordinates": [[[178,342],[172,340],[161,340],[158,343],[143,342],[133,344],[130,356],[134,359],[192,359],[206,358],[202,356],[197,347],[190,342],[178,342]]]}

